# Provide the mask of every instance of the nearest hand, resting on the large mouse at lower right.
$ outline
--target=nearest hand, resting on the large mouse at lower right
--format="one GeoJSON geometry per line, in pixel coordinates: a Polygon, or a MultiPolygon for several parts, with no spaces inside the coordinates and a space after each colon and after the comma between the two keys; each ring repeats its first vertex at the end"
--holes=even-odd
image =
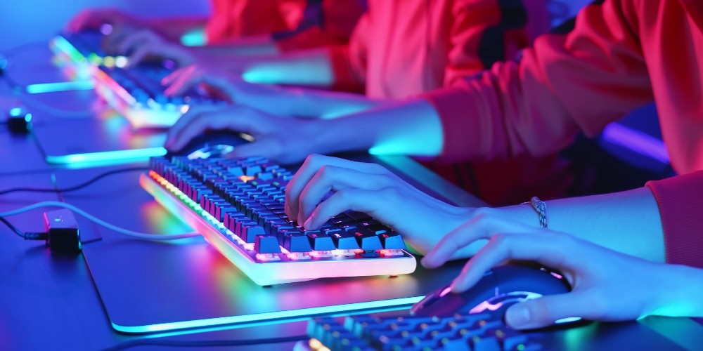
{"type": "Polygon", "coordinates": [[[505,321],[514,329],[549,326],[558,319],[583,317],[600,321],[637,319],[662,306],[671,266],[618,253],[572,235],[541,230],[494,215],[475,216],[446,235],[423,258],[425,267],[439,267],[454,252],[479,239],[489,239],[451,285],[470,289],[482,274],[505,260],[532,260],[560,270],[572,285],[565,294],[543,296],[508,307],[505,321]]]}

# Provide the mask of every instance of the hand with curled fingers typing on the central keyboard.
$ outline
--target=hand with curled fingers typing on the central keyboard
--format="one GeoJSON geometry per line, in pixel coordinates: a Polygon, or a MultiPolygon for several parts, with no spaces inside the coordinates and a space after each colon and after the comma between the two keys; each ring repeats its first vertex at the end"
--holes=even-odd
{"type": "Polygon", "coordinates": [[[318,154],[307,157],[286,186],[285,213],[305,229],[315,230],[346,210],[368,213],[421,253],[472,211],[434,199],[378,164],[318,154]],[[325,199],[329,192],[333,194],[325,199]]]}

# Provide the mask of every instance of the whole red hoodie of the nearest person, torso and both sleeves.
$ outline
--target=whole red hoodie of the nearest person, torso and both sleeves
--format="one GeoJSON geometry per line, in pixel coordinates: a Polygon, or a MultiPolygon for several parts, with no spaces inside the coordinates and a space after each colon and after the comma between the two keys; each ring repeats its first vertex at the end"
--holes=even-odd
{"type": "MultiPolygon", "coordinates": [[[[605,0],[574,30],[545,35],[519,62],[425,95],[444,128],[444,159],[546,154],[652,100],[671,164],[703,169],[703,2],[605,0]]],[[[647,184],[666,259],[703,267],[703,172],[647,184]]]]}

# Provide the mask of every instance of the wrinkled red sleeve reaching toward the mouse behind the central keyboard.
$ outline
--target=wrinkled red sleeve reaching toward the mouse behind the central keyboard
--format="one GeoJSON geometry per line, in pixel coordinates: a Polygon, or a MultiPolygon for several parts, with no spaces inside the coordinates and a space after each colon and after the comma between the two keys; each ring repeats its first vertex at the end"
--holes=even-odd
{"type": "Polygon", "coordinates": [[[446,161],[550,154],[583,131],[653,100],[631,1],[586,6],[574,30],[547,34],[519,62],[498,62],[427,93],[444,128],[446,161]]]}

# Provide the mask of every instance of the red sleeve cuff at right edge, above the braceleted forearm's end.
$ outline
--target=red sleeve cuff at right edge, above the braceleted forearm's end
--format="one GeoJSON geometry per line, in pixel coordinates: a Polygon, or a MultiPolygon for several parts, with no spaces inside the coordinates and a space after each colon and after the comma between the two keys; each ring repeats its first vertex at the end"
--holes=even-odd
{"type": "Polygon", "coordinates": [[[703,268],[703,171],[647,183],[662,216],[666,262],[703,268]]]}

